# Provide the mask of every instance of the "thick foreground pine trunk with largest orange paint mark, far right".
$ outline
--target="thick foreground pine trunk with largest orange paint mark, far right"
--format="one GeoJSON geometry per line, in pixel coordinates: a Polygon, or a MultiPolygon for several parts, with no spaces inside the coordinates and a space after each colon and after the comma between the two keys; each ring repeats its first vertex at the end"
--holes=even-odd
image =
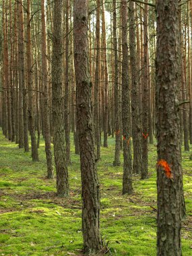
{"type": "Polygon", "coordinates": [[[178,1],[157,1],[156,129],[158,255],[181,255],[181,140],[179,128],[178,1]],[[168,177],[168,173],[170,177],[168,177]]]}

